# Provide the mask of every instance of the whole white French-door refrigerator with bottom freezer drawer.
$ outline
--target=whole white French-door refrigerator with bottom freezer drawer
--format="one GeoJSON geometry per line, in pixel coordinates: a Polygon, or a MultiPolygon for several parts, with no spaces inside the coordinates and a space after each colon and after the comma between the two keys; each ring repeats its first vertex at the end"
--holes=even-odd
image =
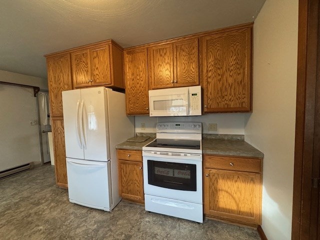
{"type": "Polygon", "coordinates": [[[62,91],[69,201],[112,210],[121,200],[115,144],[134,135],[124,93],[105,87],[62,91]]]}

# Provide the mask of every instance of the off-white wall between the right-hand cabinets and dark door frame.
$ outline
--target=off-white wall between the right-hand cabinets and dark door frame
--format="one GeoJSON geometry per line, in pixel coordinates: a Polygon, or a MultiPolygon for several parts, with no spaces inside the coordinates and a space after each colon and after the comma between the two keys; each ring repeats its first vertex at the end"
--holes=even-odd
{"type": "Polygon", "coordinates": [[[253,112],[245,140],[264,153],[262,229],[291,239],[298,0],[266,0],[253,26],[253,112]]]}

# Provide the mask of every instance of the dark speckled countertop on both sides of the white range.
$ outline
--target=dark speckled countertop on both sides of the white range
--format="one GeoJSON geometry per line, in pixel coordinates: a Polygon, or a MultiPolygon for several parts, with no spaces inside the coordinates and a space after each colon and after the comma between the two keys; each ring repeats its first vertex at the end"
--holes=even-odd
{"type": "MultiPolygon", "coordinates": [[[[145,134],[147,135],[147,134],[145,134]]],[[[143,142],[124,141],[117,149],[142,150],[142,146],[155,138],[155,134],[143,142]]],[[[202,153],[229,156],[263,157],[263,153],[244,141],[243,135],[202,134],[202,153]]]]}

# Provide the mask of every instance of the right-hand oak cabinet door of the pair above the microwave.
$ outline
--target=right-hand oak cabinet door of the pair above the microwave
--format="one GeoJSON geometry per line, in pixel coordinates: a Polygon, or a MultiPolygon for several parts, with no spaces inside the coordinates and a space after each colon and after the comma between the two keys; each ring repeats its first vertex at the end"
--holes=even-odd
{"type": "Polygon", "coordinates": [[[176,41],[174,47],[174,86],[199,85],[198,38],[176,41]]]}

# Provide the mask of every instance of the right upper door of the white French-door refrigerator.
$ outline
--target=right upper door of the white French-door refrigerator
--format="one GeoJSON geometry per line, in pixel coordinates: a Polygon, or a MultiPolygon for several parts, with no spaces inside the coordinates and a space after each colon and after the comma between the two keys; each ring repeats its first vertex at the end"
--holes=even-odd
{"type": "Polygon", "coordinates": [[[109,155],[107,97],[104,87],[81,89],[84,159],[106,161],[109,155]]]}

